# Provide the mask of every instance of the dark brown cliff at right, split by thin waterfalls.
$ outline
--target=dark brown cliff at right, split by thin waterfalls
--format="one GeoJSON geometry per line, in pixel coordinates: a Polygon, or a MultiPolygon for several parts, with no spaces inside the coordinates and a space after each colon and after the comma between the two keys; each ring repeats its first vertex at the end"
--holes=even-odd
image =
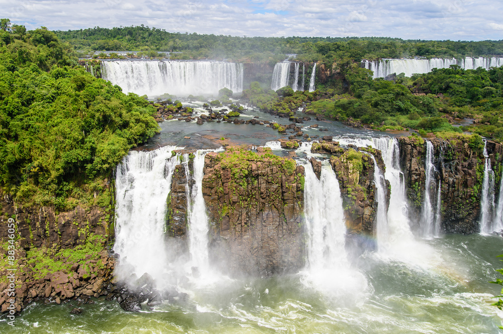
{"type": "MultiPolygon", "coordinates": [[[[485,158],[482,154],[483,143],[474,137],[459,136],[448,140],[428,139],[434,149],[434,181],[437,187],[431,187],[430,197],[436,198],[438,184],[441,182],[441,228],[444,233],[477,233],[480,230],[480,199],[484,174],[485,158]]],[[[426,183],[426,143],[423,139],[401,137],[400,163],[405,176],[409,199],[409,216],[416,226],[421,217],[426,183]]],[[[501,144],[487,142],[487,153],[491,166],[499,180],[499,166],[503,156],[501,144]]],[[[499,183],[495,183],[499,191],[499,183]]]]}

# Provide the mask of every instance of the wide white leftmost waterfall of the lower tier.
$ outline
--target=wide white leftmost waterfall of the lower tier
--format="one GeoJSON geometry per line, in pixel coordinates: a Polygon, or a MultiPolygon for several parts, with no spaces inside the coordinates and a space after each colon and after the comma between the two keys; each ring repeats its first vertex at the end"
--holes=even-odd
{"type": "Polygon", "coordinates": [[[119,276],[164,276],[166,200],[177,157],[174,146],[150,152],[130,151],[116,171],[114,251],[121,257],[119,276]],[[124,268],[123,275],[121,269],[124,268]]]}

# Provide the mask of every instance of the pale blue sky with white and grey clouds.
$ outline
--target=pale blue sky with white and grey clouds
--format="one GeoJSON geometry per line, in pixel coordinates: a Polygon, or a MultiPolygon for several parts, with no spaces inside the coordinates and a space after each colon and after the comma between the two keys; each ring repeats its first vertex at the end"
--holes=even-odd
{"type": "Polygon", "coordinates": [[[231,36],[503,39],[501,0],[0,0],[0,17],[28,29],[145,25],[231,36]]]}

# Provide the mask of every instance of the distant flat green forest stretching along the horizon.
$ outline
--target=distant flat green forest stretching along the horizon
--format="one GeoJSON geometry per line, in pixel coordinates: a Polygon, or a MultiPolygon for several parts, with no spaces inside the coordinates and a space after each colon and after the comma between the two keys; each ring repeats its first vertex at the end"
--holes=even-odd
{"type": "Polygon", "coordinates": [[[56,31],[76,50],[91,51],[178,51],[183,59],[232,59],[270,61],[297,54],[302,61],[350,58],[465,57],[503,55],[503,41],[422,41],[380,37],[234,37],[170,33],[147,26],[89,28],[56,31]]]}

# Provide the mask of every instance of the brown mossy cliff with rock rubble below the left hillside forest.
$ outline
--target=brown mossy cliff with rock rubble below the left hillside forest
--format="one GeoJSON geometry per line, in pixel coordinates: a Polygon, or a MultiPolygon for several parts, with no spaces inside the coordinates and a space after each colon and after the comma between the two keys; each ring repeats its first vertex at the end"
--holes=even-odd
{"type": "MultiPolygon", "coordinates": [[[[113,235],[110,212],[98,206],[56,212],[52,207],[27,206],[0,191],[0,307],[10,307],[10,283],[16,269],[17,312],[34,298],[52,297],[59,303],[71,297],[87,298],[108,294],[115,260],[108,256],[107,240],[113,235]],[[9,224],[14,224],[14,239],[9,224]],[[14,240],[10,243],[9,240],[14,240]],[[11,262],[9,246],[15,248],[11,262]]],[[[12,249],[12,247],[11,247],[12,249]]]]}

